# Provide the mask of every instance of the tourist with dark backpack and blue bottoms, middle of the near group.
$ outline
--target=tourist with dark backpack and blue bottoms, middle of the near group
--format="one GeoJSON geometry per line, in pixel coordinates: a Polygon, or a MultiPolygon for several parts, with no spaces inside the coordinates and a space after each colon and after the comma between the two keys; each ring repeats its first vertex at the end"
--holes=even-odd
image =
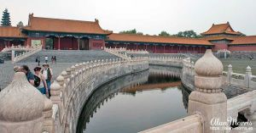
{"type": "Polygon", "coordinates": [[[48,87],[46,84],[46,80],[44,80],[44,76],[40,73],[41,68],[40,67],[36,67],[34,69],[35,71],[35,75],[34,75],[34,86],[42,93],[42,94],[46,94],[48,95],[48,87]]]}

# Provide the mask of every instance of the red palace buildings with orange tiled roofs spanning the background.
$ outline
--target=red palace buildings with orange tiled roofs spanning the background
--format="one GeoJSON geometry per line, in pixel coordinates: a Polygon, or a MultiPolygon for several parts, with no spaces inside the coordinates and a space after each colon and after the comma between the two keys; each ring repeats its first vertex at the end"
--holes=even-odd
{"type": "Polygon", "coordinates": [[[242,36],[230,23],[212,25],[202,38],[143,36],[103,30],[99,21],[50,19],[29,14],[28,25],[19,28],[0,26],[0,51],[3,47],[42,46],[44,49],[89,50],[102,47],[126,47],[151,53],[205,53],[214,51],[256,51],[256,36],[242,36]]]}

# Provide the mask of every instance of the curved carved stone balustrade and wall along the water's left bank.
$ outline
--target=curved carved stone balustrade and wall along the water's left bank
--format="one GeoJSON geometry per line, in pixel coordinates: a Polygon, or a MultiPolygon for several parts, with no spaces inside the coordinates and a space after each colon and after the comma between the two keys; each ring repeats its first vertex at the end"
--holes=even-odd
{"type": "Polygon", "coordinates": [[[76,64],[64,70],[51,86],[55,132],[76,132],[81,109],[98,86],[146,69],[148,58],[132,58],[129,61],[119,58],[76,64]]]}

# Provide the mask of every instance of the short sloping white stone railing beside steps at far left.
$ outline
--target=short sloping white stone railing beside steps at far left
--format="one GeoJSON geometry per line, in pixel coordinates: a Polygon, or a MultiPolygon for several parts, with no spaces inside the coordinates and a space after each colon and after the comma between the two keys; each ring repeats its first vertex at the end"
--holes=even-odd
{"type": "Polygon", "coordinates": [[[20,55],[15,55],[15,50],[12,51],[12,62],[16,63],[19,62],[20,60],[30,57],[35,53],[38,53],[42,50],[42,47],[35,47],[31,48],[30,51],[26,51],[24,53],[20,53],[20,55]]]}

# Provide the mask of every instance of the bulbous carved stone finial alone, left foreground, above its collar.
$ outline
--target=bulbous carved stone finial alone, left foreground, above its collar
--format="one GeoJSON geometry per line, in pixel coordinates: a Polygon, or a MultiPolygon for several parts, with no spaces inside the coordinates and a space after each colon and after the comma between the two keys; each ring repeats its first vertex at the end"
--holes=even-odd
{"type": "Polygon", "coordinates": [[[27,80],[22,72],[0,93],[0,120],[28,121],[42,117],[44,96],[27,80]]]}

